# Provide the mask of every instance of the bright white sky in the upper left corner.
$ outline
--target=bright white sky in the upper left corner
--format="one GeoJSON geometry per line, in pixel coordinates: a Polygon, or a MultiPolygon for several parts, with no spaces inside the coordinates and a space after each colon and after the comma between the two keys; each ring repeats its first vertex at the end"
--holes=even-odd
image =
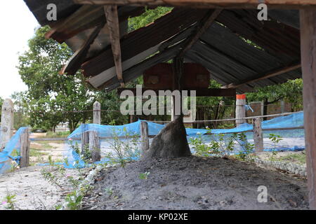
{"type": "Polygon", "coordinates": [[[27,90],[18,69],[18,53],[27,50],[27,41],[39,23],[23,0],[1,1],[0,6],[0,97],[27,90]]]}

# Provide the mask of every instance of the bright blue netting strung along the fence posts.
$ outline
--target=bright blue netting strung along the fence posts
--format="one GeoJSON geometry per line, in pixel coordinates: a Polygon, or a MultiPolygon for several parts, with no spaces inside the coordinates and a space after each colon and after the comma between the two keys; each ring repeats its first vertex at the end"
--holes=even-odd
{"type": "MultiPolygon", "coordinates": [[[[80,125],[72,134],[70,134],[67,139],[67,151],[65,153],[65,158],[67,158],[67,163],[65,167],[74,168],[74,167],[84,167],[86,166],[84,161],[81,160],[80,155],[78,155],[71,144],[81,144],[80,141],[72,139],[80,139],[81,134],[84,132],[96,131],[98,136],[102,138],[111,139],[114,135],[115,137],[126,137],[126,133],[129,135],[140,135],[140,123],[142,120],[138,120],[136,123],[131,123],[127,125],[96,125],[96,124],[82,124],[80,125]]],[[[165,125],[160,125],[157,123],[147,122],[149,135],[154,136],[159,134],[159,132],[164,128],[165,125]]],[[[289,116],[281,116],[273,118],[271,120],[265,120],[262,122],[263,136],[265,139],[268,139],[269,134],[279,134],[284,139],[283,144],[279,144],[277,148],[273,148],[269,144],[265,144],[265,151],[297,151],[303,150],[305,148],[304,144],[304,130],[294,129],[294,130],[276,130],[271,131],[270,129],[280,129],[280,128],[301,128],[303,127],[303,111],[298,113],[293,113],[289,116]]],[[[20,134],[25,130],[25,127],[21,127],[18,132],[15,133],[14,137],[7,144],[4,151],[0,153],[0,174],[3,174],[8,169],[11,168],[11,161],[15,160],[19,162],[19,157],[14,158],[12,153],[16,150],[20,152],[19,139],[20,134]]],[[[229,136],[232,133],[247,132],[246,136],[249,141],[253,139],[253,133],[250,132],[253,130],[253,125],[244,123],[232,129],[216,129],[216,130],[204,130],[204,129],[192,129],[186,128],[188,138],[194,138],[199,135],[204,135],[207,132],[211,132],[211,135],[205,135],[205,141],[216,140],[217,134],[225,134],[229,136]]],[[[102,144],[101,144],[102,145],[102,144]]],[[[101,147],[102,148],[102,147],[101,147]]],[[[134,157],[137,159],[137,157],[134,157]]],[[[107,160],[104,158],[103,162],[107,160]]],[[[62,164],[62,163],[61,163],[62,164]]]]}

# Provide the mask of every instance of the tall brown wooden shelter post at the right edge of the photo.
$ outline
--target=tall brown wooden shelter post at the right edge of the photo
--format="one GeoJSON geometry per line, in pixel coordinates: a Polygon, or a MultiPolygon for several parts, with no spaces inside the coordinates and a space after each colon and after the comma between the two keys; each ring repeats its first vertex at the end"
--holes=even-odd
{"type": "Polygon", "coordinates": [[[301,10],[301,64],[310,209],[316,209],[316,10],[301,10]]]}

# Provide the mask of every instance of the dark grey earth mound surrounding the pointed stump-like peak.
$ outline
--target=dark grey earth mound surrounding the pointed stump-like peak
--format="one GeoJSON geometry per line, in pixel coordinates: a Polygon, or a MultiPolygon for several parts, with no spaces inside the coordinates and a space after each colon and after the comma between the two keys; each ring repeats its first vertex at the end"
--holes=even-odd
{"type": "Polygon", "coordinates": [[[133,162],[101,172],[91,209],[308,209],[304,179],[222,158],[133,162]],[[147,180],[139,174],[150,172],[147,180]],[[258,186],[268,188],[259,203],[258,186]]]}

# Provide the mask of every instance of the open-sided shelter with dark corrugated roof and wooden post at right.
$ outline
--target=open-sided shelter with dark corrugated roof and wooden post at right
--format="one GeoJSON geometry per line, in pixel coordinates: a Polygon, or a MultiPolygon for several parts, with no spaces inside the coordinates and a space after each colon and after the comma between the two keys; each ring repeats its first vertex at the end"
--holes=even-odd
{"type": "MultiPolygon", "coordinates": [[[[124,87],[170,59],[176,71],[173,89],[182,88],[183,62],[195,62],[223,85],[223,95],[231,89],[249,92],[256,86],[301,78],[303,71],[310,208],[316,209],[315,0],[25,2],[41,25],[51,27],[48,38],[74,50],[62,73],[83,69],[87,83],[99,90],[124,87]],[[57,21],[47,20],[48,3],[57,6],[57,21]],[[268,5],[268,21],[258,20],[258,3],[268,5]],[[174,8],[152,24],[128,32],[128,18],[143,13],[145,6],[174,8]]],[[[212,94],[213,90],[206,93],[212,94]]]]}

